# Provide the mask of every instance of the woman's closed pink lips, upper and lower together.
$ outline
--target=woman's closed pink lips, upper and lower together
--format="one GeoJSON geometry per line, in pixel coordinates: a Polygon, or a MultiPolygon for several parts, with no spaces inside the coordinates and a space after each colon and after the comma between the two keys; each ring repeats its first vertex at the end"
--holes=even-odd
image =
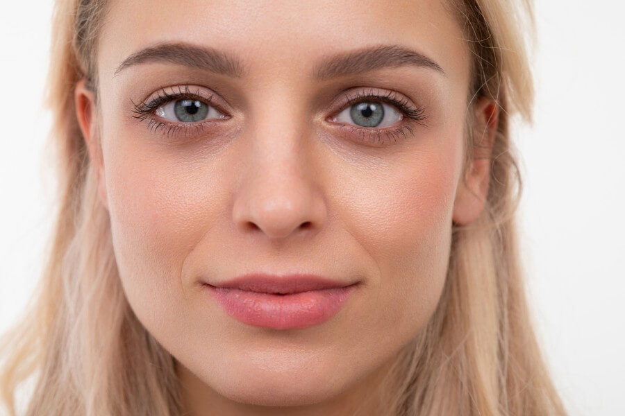
{"type": "Polygon", "coordinates": [[[224,311],[245,324],[272,329],[299,329],[332,318],[357,284],[315,275],[245,275],[203,286],[224,311]]]}

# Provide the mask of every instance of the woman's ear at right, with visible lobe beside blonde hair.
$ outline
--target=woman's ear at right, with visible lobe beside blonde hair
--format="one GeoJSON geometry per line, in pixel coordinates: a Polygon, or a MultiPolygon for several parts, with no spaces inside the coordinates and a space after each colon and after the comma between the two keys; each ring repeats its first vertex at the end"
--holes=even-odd
{"type": "Polygon", "coordinates": [[[463,180],[458,183],[453,203],[453,222],[459,225],[472,223],[486,205],[492,146],[499,125],[499,107],[490,98],[481,97],[474,104],[472,126],[474,152],[463,180]]]}

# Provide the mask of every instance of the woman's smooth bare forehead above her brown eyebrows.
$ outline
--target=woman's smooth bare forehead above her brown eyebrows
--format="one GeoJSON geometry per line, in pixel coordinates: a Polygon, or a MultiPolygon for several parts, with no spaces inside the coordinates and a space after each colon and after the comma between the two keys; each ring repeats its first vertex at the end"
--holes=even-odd
{"type": "Polygon", "coordinates": [[[128,55],[163,42],[239,57],[251,77],[310,73],[321,57],[399,45],[465,78],[468,49],[442,0],[133,0],[110,2],[99,39],[105,78],[128,55]]]}

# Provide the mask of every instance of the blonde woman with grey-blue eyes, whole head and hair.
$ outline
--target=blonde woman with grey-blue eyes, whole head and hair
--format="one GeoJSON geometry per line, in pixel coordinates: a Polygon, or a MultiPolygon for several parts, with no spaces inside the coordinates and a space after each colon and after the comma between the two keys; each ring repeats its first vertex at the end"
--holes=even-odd
{"type": "MultiPolygon", "coordinates": [[[[528,4],[59,0],[27,415],[564,415],[508,121],[528,4]]],[[[528,19],[531,21],[531,19],[528,19]]]]}

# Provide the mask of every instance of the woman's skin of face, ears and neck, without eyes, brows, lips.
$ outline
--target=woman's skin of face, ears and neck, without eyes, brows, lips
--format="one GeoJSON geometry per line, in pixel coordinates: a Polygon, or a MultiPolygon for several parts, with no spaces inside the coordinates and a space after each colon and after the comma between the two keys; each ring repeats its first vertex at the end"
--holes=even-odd
{"type": "MultiPolygon", "coordinates": [[[[178,361],[190,415],[346,415],[375,401],[390,361],[440,299],[452,222],[471,223],[484,207],[490,149],[462,177],[462,38],[440,1],[111,3],[99,97],[79,83],[76,114],[124,293],[178,361]],[[235,79],[149,62],[114,75],[129,55],[164,41],[234,53],[249,71],[235,79]],[[444,74],[404,66],[309,76],[328,53],[378,44],[419,51],[444,74]],[[133,117],[133,102],[177,85],[212,92],[230,118],[167,137],[133,117]],[[338,128],[331,116],[350,107],[343,92],[371,88],[425,107],[424,125],[384,144],[338,128]],[[199,285],[254,271],[360,285],[331,320],[283,331],[234,320],[199,285]]],[[[491,143],[495,107],[480,99],[469,111],[491,143]]]]}

